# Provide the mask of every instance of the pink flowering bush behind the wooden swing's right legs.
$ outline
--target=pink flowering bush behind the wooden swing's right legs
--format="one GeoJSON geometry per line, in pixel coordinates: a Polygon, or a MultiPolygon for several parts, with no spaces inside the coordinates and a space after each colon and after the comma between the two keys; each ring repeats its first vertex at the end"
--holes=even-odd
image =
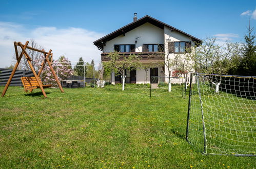
{"type": "MultiPolygon", "coordinates": [[[[38,68],[38,70],[41,67],[41,63],[44,60],[44,56],[42,56],[40,59],[38,59],[37,65],[36,67],[38,68]]],[[[57,60],[53,60],[52,61],[52,67],[56,73],[56,75],[58,76],[58,80],[60,80],[60,82],[62,80],[65,80],[67,77],[73,75],[73,69],[71,67],[70,63],[58,63],[58,62],[69,62],[68,58],[66,58],[65,56],[61,56],[60,58],[58,58],[57,60]]],[[[46,85],[53,85],[55,87],[57,87],[57,82],[51,72],[51,69],[49,67],[48,64],[45,65],[42,74],[41,74],[41,78],[42,78],[42,82],[46,85]]]]}

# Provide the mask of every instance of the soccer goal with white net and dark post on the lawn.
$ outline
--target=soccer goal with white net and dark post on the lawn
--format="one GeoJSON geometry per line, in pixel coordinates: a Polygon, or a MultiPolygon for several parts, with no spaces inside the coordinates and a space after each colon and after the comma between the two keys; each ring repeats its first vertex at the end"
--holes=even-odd
{"type": "Polygon", "coordinates": [[[255,156],[256,77],[194,73],[186,140],[204,154],[255,156]]]}

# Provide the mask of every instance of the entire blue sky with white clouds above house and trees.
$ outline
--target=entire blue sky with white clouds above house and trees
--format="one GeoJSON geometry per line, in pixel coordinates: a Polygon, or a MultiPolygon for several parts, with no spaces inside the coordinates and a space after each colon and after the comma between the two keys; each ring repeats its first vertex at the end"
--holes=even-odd
{"type": "Polygon", "coordinates": [[[248,20],[256,23],[256,1],[7,1],[0,5],[0,67],[11,64],[14,40],[31,38],[56,56],[100,61],[92,42],[150,15],[205,39],[241,41],[248,20]],[[247,12],[246,12],[247,11],[247,12]],[[243,14],[242,14],[243,13],[243,14]]]}

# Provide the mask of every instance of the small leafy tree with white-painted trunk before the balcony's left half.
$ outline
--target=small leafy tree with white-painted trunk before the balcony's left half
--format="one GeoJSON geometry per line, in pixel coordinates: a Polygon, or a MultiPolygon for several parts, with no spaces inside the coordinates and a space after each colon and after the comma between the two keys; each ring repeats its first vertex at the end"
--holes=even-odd
{"type": "Polygon", "coordinates": [[[123,88],[125,90],[125,78],[131,70],[136,70],[141,67],[140,58],[135,54],[130,54],[128,57],[120,55],[118,52],[111,52],[108,54],[110,61],[104,63],[104,67],[111,69],[115,74],[120,74],[122,78],[123,88]]]}

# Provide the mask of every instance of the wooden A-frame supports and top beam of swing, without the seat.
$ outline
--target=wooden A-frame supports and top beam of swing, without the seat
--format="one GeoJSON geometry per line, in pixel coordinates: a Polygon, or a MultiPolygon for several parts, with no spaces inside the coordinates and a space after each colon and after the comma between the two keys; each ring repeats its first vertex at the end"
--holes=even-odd
{"type": "Polygon", "coordinates": [[[23,45],[21,42],[16,43],[16,41],[14,41],[14,49],[15,49],[15,55],[16,55],[17,62],[16,62],[15,66],[14,66],[14,68],[12,70],[12,73],[11,73],[11,75],[9,77],[8,82],[6,83],[6,86],[5,86],[5,89],[4,89],[3,93],[2,93],[2,96],[4,96],[6,94],[6,91],[7,91],[8,87],[9,87],[9,85],[11,83],[11,80],[12,80],[12,78],[14,76],[14,73],[17,70],[19,62],[21,62],[21,59],[22,59],[23,55],[25,55],[25,57],[26,57],[26,59],[28,61],[28,64],[29,64],[29,66],[30,66],[30,68],[31,68],[35,78],[36,78],[38,86],[40,87],[40,89],[41,89],[41,91],[42,91],[42,93],[43,93],[43,95],[45,97],[47,97],[47,96],[46,96],[46,93],[44,91],[43,85],[40,82],[40,75],[41,75],[41,73],[42,73],[42,71],[44,69],[44,66],[45,66],[46,62],[48,63],[48,65],[49,65],[49,67],[51,69],[51,72],[52,72],[52,74],[53,74],[53,76],[54,76],[54,78],[55,78],[55,80],[56,80],[56,82],[58,84],[58,87],[60,88],[61,92],[64,92],[64,90],[62,89],[61,83],[60,83],[60,81],[58,81],[58,77],[57,77],[57,75],[55,74],[55,72],[54,72],[54,70],[52,68],[52,63],[51,63],[52,62],[52,53],[51,53],[52,50],[49,50],[49,52],[46,52],[44,50],[35,49],[35,48],[32,48],[32,47],[29,47],[28,43],[29,43],[29,41],[26,41],[25,45],[23,45]],[[21,54],[19,56],[18,56],[17,46],[21,47],[21,49],[22,49],[22,52],[21,52],[21,54]],[[44,61],[41,64],[42,67],[41,67],[40,71],[38,72],[38,74],[36,74],[32,64],[31,64],[32,59],[29,57],[28,53],[26,52],[26,49],[30,49],[30,50],[33,50],[33,51],[36,51],[36,52],[41,52],[45,56],[45,59],[44,59],[44,61]],[[49,60],[49,56],[51,56],[51,61],[49,60]]]}

